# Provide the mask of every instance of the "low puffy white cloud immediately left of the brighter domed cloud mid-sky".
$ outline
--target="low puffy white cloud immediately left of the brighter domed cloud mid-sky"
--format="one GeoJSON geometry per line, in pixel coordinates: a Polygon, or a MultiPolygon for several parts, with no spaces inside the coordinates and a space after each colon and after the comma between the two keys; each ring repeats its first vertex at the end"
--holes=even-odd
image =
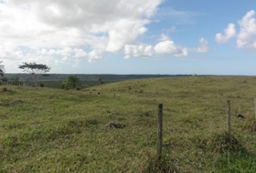
{"type": "Polygon", "coordinates": [[[126,59],[129,59],[131,56],[146,58],[152,56],[152,46],[126,45],[124,46],[124,54],[126,59]]]}

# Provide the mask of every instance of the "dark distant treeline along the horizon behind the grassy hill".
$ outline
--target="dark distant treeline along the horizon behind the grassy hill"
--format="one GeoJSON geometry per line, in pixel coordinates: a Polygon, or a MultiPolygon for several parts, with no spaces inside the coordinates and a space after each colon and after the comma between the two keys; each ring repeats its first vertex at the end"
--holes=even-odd
{"type": "MultiPolygon", "coordinates": [[[[170,76],[191,76],[191,75],[111,75],[111,74],[47,74],[41,76],[38,84],[43,84],[46,87],[60,88],[69,76],[78,76],[80,78],[83,87],[97,86],[99,85],[99,78],[104,81],[104,84],[119,82],[123,80],[132,80],[140,78],[151,77],[170,77],[170,76]]],[[[26,86],[33,86],[33,80],[31,74],[5,74],[8,80],[14,77],[18,77],[19,81],[24,82],[26,86]]]]}

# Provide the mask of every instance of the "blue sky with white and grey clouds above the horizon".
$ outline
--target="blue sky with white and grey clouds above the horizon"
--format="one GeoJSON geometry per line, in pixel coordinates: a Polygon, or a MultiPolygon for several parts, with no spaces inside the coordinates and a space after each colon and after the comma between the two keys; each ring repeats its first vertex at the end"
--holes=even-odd
{"type": "Polygon", "coordinates": [[[62,74],[256,75],[255,0],[0,0],[0,61],[62,74]]]}

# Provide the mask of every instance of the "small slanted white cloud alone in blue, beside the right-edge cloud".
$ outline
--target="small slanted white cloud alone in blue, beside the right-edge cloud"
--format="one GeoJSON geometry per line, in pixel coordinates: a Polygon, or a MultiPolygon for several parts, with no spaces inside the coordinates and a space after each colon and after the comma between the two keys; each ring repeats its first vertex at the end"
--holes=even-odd
{"type": "Polygon", "coordinates": [[[234,24],[229,24],[228,27],[224,30],[224,35],[218,33],[215,36],[215,40],[219,44],[224,44],[227,43],[229,39],[233,36],[236,36],[236,28],[234,24]]]}

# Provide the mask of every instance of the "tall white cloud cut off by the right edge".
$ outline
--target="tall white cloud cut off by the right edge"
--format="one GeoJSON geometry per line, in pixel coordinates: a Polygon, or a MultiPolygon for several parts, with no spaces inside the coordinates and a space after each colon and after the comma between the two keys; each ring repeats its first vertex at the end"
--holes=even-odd
{"type": "Polygon", "coordinates": [[[240,33],[238,34],[237,47],[256,48],[256,19],[255,11],[251,10],[238,22],[240,33]]]}

